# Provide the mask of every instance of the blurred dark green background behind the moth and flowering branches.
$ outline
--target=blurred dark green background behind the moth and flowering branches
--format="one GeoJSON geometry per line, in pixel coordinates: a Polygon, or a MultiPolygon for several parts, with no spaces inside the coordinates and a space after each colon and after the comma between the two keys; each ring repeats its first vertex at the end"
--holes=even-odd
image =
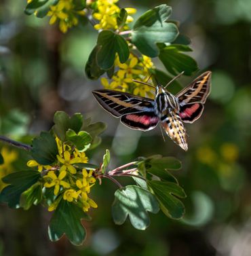
{"type": "MultiPolygon", "coordinates": [[[[48,18],[26,16],[26,1],[16,0],[0,2],[0,134],[29,143],[26,134],[50,129],[57,110],[106,122],[102,144],[90,151],[92,162],[99,164],[107,148],[111,168],[138,156],[175,156],[183,165],[174,175],[187,192],[185,218],[151,215],[146,231],[135,230],[129,221],[115,225],[111,204],[117,187],[102,181],[93,189],[98,208],[91,213],[93,221],[85,222],[88,238],[83,246],[65,238],[50,242],[51,213],[45,209],[34,206],[26,212],[1,205],[0,255],[251,255],[251,1],[119,1],[121,7],[136,7],[136,16],[160,3],[173,7],[171,18],[191,38],[199,68],[212,71],[204,114],[186,125],[188,152],[170,139],[163,142],[159,129],[142,133],[122,126],[97,105],[91,92],[101,88],[100,81],[84,74],[98,35],[92,26],[62,35],[48,25],[48,18]]],[[[161,63],[155,65],[163,69],[161,63]]],[[[186,85],[191,79],[180,81],[186,85]]],[[[6,145],[1,152],[6,166],[17,153],[26,157],[6,145]]],[[[9,171],[6,166],[1,166],[0,177],[9,171]]],[[[13,170],[22,168],[14,162],[13,170]]]]}

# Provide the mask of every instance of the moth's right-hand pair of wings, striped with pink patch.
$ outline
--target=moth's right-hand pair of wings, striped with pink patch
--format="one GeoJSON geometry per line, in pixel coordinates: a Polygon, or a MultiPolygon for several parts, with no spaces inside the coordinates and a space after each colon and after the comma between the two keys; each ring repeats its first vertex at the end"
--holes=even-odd
{"type": "Polygon", "coordinates": [[[201,116],[206,98],[210,94],[211,74],[211,71],[203,73],[176,95],[182,122],[193,123],[201,116]]]}

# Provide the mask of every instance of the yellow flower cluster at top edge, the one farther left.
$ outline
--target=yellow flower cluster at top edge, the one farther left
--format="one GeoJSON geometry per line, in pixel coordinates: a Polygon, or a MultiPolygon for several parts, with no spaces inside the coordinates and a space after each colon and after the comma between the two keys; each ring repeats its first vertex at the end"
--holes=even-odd
{"type": "Polygon", "coordinates": [[[73,0],[59,0],[56,5],[50,7],[50,11],[47,13],[47,16],[51,17],[50,24],[54,24],[58,20],[59,29],[63,33],[78,24],[77,15],[85,15],[85,12],[75,10],[73,0]]]}

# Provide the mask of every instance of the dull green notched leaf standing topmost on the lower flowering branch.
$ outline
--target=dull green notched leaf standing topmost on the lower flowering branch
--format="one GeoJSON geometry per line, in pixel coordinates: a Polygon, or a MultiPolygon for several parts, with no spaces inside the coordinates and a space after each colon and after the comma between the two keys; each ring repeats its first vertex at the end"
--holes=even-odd
{"type": "Polygon", "coordinates": [[[53,130],[61,141],[65,141],[66,131],[71,129],[76,133],[81,130],[83,125],[83,115],[75,113],[69,117],[64,111],[56,111],[54,115],[53,130]]]}

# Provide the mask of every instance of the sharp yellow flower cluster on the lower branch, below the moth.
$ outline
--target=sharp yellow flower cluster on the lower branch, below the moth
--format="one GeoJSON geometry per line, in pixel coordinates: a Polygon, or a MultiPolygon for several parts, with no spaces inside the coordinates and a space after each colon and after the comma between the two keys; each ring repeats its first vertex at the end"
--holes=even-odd
{"type": "Polygon", "coordinates": [[[98,207],[96,202],[88,197],[91,187],[96,183],[93,171],[82,168],[80,172],[75,166],[75,164],[88,162],[85,152],[64,145],[58,137],[56,137],[56,143],[59,152],[58,161],[53,166],[42,166],[35,160],[27,162],[27,166],[37,166],[39,171],[46,173],[43,176],[43,187],[47,189],[54,188],[56,199],[50,204],[48,211],[54,211],[62,199],[68,202],[78,202],[81,204],[83,211],[88,211],[90,207],[98,207]]]}

